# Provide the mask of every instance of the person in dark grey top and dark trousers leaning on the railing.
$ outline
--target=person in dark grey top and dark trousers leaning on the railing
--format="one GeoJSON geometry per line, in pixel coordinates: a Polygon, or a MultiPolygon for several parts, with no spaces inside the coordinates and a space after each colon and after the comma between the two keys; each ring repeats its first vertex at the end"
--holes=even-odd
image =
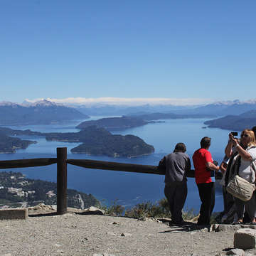
{"type": "Polygon", "coordinates": [[[166,171],[164,194],[171,212],[170,224],[183,222],[182,208],[188,193],[186,172],[191,170],[191,161],[185,152],[185,144],[178,143],[174,152],[164,156],[159,162],[159,168],[166,171]]]}

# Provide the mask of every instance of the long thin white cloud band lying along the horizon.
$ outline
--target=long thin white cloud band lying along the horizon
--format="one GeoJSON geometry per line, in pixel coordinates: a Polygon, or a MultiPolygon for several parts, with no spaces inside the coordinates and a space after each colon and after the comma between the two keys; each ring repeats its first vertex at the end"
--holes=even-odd
{"type": "Polygon", "coordinates": [[[211,99],[201,98],[121,98],[121,97],[68,97],[65,99],[55,98],[38,98],[33,100],[26,99],[27,102],[37,102],[39,100],[49,100],[50,102],[70,105],[123,105],[123,106],[139,106],[139,105],[203,105],[214,102],[211,99]]]}

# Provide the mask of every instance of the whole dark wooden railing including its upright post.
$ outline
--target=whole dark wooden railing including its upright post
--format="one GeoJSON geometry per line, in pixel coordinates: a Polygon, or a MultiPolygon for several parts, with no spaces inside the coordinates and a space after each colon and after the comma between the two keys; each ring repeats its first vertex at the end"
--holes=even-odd
{"type": "MultiPolygon", "coordinates": [[[[159,174],[164,175],[165,171],[158,169],[157,166],[142,164],[123,164],[112,161],[95,161],[84,159],[67,159],[67,148],[57,148],[57,158],[40,159],[18,159],[0,161],[0,169],[12,169],[23,167],[47,166],[57,164],[57,213],[67,212],[67,164],[73,164],[89,169],[102,169],[111,171],[129,171],[140,174],[159,174]]],[[[194,171],[188,177],[194,177],[194,171]]]]}

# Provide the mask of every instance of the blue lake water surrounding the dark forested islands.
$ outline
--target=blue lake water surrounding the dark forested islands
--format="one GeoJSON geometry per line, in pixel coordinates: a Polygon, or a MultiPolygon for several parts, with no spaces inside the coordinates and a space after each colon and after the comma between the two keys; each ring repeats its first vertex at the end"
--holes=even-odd
{"type": "MultiPolygon", "coordinates": [[[[92,117],[97,119],[100,117],[92,117]]],[[[56,157],[56,148],[66,146],[68,159],[95,159],[102,161],[118,161],[131,164],[157,165],[159,160],[174,150],[178,142],[187,147],[187,154],[192,157],[199,148],[200,140],[204,136],[212,138],[210,152],[213,159],[219,163],[223,159],[225,145],[228,142],[227,130],[202,129],[207,119],[168,119],[164,122],[147,124],[143,127],[115,131],[114,134],[133,134],[144,139],[155,148],[154,154],[132,159],[110,158],[107,156],[87,156],[85,154],[71,154],[70,149],[78,143],[46,142],[43,137],[21,137],[22,139],[36,140],[37,144],[27,149],[18,150],[15,154],[0,154],[0,160],[31,159],[41,157],[56,157]]],[[[12,129],[31,129],[38,132],[78,132],[75,126],[80,122],[70,122],[65,125],[38,125],[11,127],[12,129]]],[[[191,161],[192,162],[192,161],[191,161]]],[[[2,170],[5,171],[5,170],[2,170]]],[[[11,169],[6,171],[20,171],[28,178],[38,178],[45,181],[56,181],[56,165],[31,167],[26,169],[11,169]]],[[[68,165],[68,188],[74,188],[84,193],[91,193],[106,204],[117,200],[123,206],[134,206],[146,201],[156,202],[164,198],[164,176],[154,174],[132,174],[122,171],[106,171],[84,169],[68,165]]],[[[198,212],[200,208],[198,190],[193,178],[188,178],[188,197],[185,209],[193,208],[198,212]]],[[[217,184],[214,211],[223,210],[223,197],[220,186],[217,184]]]]}

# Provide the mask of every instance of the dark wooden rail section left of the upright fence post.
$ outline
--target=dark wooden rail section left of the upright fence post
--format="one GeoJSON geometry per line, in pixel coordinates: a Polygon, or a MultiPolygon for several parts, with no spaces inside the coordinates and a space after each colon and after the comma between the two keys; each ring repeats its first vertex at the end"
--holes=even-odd
{"type": "Polygon", "coordinates": [[[57,163],[56,158],[7,160],[7,161],[0,161],[0,169],[47,166],[47,165],[56,164],[56,163],[57,163]]]}

